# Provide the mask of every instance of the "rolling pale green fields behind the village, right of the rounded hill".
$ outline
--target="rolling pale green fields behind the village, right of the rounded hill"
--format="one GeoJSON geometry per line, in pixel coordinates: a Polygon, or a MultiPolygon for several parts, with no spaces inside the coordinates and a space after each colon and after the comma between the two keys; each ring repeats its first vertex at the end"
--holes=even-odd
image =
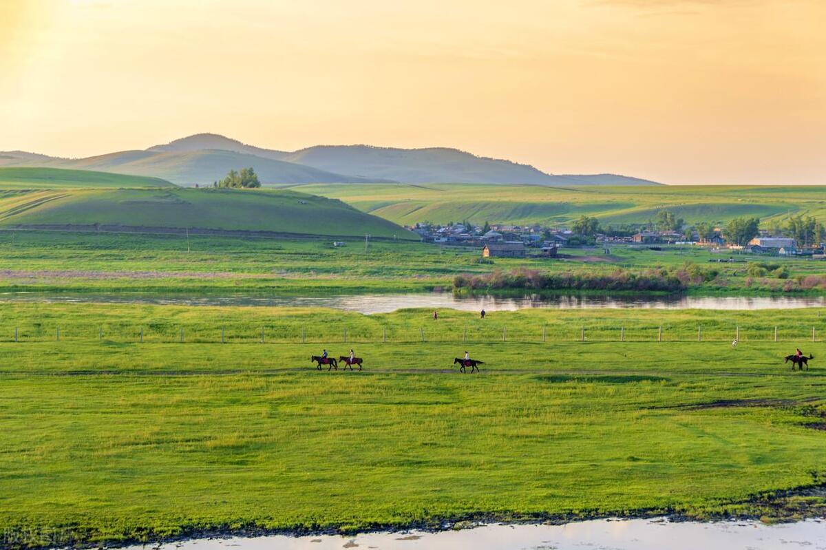
{"type": "Polygon", "coordinates": [[[470,220],[564,225],[583,214],[602,225],[642,224],[667,208],[687,222],[761,220],[804,214],[826,218],[826,188],[748,186],[539,187],[472,184],[311,184],[294,187],[333,197],[398,224],[470,220]]]}

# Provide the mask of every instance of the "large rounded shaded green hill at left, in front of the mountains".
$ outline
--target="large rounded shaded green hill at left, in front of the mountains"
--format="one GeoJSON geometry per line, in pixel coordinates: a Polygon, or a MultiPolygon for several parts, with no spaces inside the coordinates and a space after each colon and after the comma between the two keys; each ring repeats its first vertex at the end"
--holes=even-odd
{"type": "Polygon", "coordinates": [[[418,239],[392,221],[335,199],[294,191],[112,189],[7,192],[0,226],[121,225],[418,239]]]}

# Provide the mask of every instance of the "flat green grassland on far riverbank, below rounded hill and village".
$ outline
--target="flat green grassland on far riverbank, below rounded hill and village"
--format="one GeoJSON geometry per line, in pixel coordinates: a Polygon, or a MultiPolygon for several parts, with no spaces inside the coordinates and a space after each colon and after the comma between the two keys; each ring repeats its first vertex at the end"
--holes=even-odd
{"type": "Polygon", "coordinates": [[[363,239],[241,239],[219,235],[134,235],[94,232],[0,230],[0,292],[144,291],[144,292],[282,292],[352,293],[449,289],[460,273],[497,269],[539,269],[548,273],[611,273],[617,268],[677,268],[697,263],[718,269],[718,282],[690,292],[755,294],[786,280],[761,277],[749,281],[748,263],[710,263],[743,259],[781,263],[792,279],[824,275],[826,263],[805,259],[716,254],[700,247],[647,248],[615,246],[610,256],[594,249],[565,250],[559,260],[496,258],[479,263],[478,249],[439,247],[415,242],[374,241],[367,252],[363,239]],[[188,251],[189,250],[189,251],[188,251]],[[758,284],[761,283],[761,284],[758,284]],[[768,283],[771,283],[769,285],[768,283]]]}

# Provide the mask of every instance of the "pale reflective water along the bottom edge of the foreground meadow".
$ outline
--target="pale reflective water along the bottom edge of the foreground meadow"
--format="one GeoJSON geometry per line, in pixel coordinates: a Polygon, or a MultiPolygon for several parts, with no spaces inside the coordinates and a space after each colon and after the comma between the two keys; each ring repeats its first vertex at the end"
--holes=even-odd
{"type": "MultiPolygon", "coordinates": [[[[141,547],[133,547],[137,550],[141,547]]],[[[153,548],[158,548],[153,546],[153,548]]],[[[160,550],[775,550],[826,549],[826,521],[765,525],[753,521],[694,523],[664,519],[593,520],[564,525],[484,525],[409,533],[341,537],[207,538],[160,545],[160,550]]]]}

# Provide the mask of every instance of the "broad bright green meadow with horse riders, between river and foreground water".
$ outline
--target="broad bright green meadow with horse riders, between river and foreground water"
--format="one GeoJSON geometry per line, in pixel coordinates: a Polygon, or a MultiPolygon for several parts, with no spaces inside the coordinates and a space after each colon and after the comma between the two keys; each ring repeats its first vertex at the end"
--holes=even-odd
{"type": "MultiPolygon", "coordinates": [[[[782,509],[756,500],[826,476],[826,432],[813,429],[826,415],[824,344],[807,342],[804,326],[826,329],[819,311],[520,311],[485,320],[492,338],[508,325],[506,343],[359,341],[382,326],[392,338],[423,325],[430,335],[428,314],[2,306],[3,546],[469,517],[824,513],[815,496],[782,509]],[[725,340],[539,339],[544,324],[590,335],[618,322],[702,323],[725,340]],[[803,334],[732,348],[735,323],[748,335],[797,323],[803,334]],[[35,324],[42,335],[7,338],[35,324]],[[64,336],[48,341],[58,324],[64,336]],[[207,343],[220,325],[228,343],[207,343]],[[117,326],[131,327],[131,343],[117,326]],[[174,342],[180,326],[191,341],[174,342]],[[343,326],[357,344],[341,341],[343,326]],[[298,343],[301,327],[312,344],[298,343]],[[364,372],[308,361],[350,346],[364,372]],[[814,353],[809,372],[781,363],[795,346],[814,353]],[[466,348],[487,362],[482,374],[453,369],[466,348]]],[[[432,332],[459,337],[474,317],[443,311],[432,332]]]]}

